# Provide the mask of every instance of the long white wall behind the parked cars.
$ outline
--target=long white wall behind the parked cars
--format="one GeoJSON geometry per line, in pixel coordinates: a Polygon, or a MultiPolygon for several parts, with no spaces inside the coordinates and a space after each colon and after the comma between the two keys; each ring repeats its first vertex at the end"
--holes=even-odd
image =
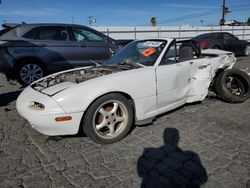
{"type": "Polygon", "coordinates": [[[147,39],[177,38],[189,39],[196,35],[209,32],[225,31],[239,39],[250,41],[250,26],[211,26],[211,27],[129,27],[129,26],[98,26],[94,29],[114,39],[147,39]]]}

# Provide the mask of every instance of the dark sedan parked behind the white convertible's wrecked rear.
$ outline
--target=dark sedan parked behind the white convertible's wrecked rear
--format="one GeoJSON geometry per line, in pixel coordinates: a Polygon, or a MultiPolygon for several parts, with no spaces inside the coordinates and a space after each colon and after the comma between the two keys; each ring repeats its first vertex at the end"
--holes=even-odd
{"type": "Polygon", "coordinates": [[[221,49],[234,52],[235,55],[250,55],[250,43],[226,32],[215,32],[198,35],[193,38],[201,48],[221,49]]]}

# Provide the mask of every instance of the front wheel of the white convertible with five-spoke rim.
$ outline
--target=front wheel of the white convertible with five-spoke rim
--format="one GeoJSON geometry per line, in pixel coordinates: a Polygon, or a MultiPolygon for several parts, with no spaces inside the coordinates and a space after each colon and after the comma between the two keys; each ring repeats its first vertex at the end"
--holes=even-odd
{"type": "Polygon", "coordinates": [[[82,127],[94,142],[111,144],[128,134],[133,120],[133,108],[129,101],[120,94],[107,94],[87,109],[82,127]]]}

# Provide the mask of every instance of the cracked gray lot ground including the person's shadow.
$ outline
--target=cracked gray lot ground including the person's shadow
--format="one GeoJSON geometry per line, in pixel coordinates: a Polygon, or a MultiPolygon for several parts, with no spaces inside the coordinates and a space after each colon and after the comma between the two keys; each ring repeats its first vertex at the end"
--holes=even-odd
{"type": "MultiPolygon", "coordinates": [[[[239,59],[247,70],[250,58],[239,59]]],[[[102,146],[33,130],[12,84],[0,75],[0,187],[250,188],[250,100],[205,99],[102,146]]]]}

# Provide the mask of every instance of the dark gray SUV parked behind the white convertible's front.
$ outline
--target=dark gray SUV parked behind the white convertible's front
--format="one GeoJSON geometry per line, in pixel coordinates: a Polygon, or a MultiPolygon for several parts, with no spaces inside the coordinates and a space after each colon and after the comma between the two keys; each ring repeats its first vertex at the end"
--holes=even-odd
{"type": "Polygon", "coordinates": [[[121,43],[74,24],[5,24],[0,31],[0,72],[28,85],[44,75],[104,62],[121,43]]]}

